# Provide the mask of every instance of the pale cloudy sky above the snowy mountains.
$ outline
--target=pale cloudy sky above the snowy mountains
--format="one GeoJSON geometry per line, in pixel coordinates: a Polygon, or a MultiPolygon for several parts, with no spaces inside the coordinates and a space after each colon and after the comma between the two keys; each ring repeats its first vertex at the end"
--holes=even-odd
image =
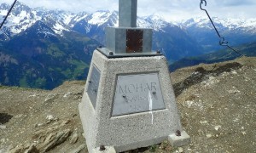
{"type": "MultiPolygon", "coordinates": [[[[72,12],[95,12],[96,10],[118,10],[119,0],[18,0],[31,8],[44,6],[72,12]]],[[[14,0],[0,0],[13,3],[14,0]]],[[[201,0],[137,0],[138,15],[159,14],[166,20],[183,20],[206,16],[199,8],[201,0]]],[[[211,16],[219,18],[256,18],[255,0],[207,0],[211,16]]]]}

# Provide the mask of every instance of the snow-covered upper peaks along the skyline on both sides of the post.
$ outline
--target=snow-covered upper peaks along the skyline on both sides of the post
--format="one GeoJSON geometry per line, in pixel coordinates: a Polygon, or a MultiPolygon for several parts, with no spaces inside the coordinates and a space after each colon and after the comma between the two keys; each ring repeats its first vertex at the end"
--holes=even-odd
{"type": "MultiPolygon", "coordinates": [[[[0,5],[0,15],[4,16],[6,11],[8,10],[8,4],[2,3],[0,5]]],[[[32,14],[28,15],[28,17],[34,17],[34,20],[45,20],[44,18],[51,17],[53,20],[57,21],[55,23],[55,32],[61,33],[61,28],[63,30],[70,30],[75,26],[76,22],[79,22],[81,20],[87,21],[90,25],[96,25],[96,26],[102,26],[103,24],[107,24],[106,26],[118,26],[118,12],[117,11],[96,11],[95,13],[86,13],[86,12],[80,12],[80,13],[72,13],[69,11],[64,10],[49,10],[46,8],[29,8],[25,4],[18,2],[15,5],[15,13],[14,14],[25,14],[25,10],[31,11],[32,14]],[[18,8],[18,10],[16,10],[18,8]],[[60,21],[61,20],[61,21],[60,21]],[[108,20],[111,20],[112,22],[109,22],[108,20]],[[62,22],[62,23],[61,23],[62,22]],[[66,27],[65,27],[66,26],[66,27]],[[59,27],[59,28],[57,28],[59,27]]],[[[9,18],[12,18],[12,14],[9,18]]],[[[24,19],[24,16],[20,16],[20,18],[24,19]]],[[[11,19],[13,20],[13,19],[11,19]]],[[[15,20],[18,20],[17,17],[15,20]]],[[[20,19],[22,20],[22,19],[20,19]]],[[[32,23],[35,22],[32,20],[32,23]]],[[[216,24],[217,28],[222,30],[237,30],[240,31],[247,31],[251,32],[253,34],[256,33],[256,18],[250,19],[250,20],[242,20],[242,19],[219,19],[217,17],[212,17],[213,22],[216,24]]],[[[24,21],[23,21],[24,22],[24,21]]],[[[150,14],[148,16],[144,17],[138,17],[137,20],[137,26],[139,27],[146,27],[146,28],[153,28],[154,31],[160,31],[160,27],[165,27],[166,24],[172,25],[172,26],[179,26],[180,28],[186,30],[191,28],[192,26],[197,26],[198,28],[207,28],[212,30],[212,25],[209,22],[209,20],[205,17],[196,17],[195,19],[191,18],[189,20],[182,20],[179,22],[168,22],[160,17],[160,15],[157,14],[150,14]]],[[[31,25],[30,25],[31,26],[31,25]]],[[[8,26],[6,26],[8,27],[8,26]]],[[[27,26],[26,26],[27,27],[27,26]]],[[[25,27],[25,28],[26,28],[25,27]]],[[[21,28],[21,30],[24,30],[25,28],[21,28]]],[[[15,31],[13,34],[17,34],[20,31],[15,31]]]]}

